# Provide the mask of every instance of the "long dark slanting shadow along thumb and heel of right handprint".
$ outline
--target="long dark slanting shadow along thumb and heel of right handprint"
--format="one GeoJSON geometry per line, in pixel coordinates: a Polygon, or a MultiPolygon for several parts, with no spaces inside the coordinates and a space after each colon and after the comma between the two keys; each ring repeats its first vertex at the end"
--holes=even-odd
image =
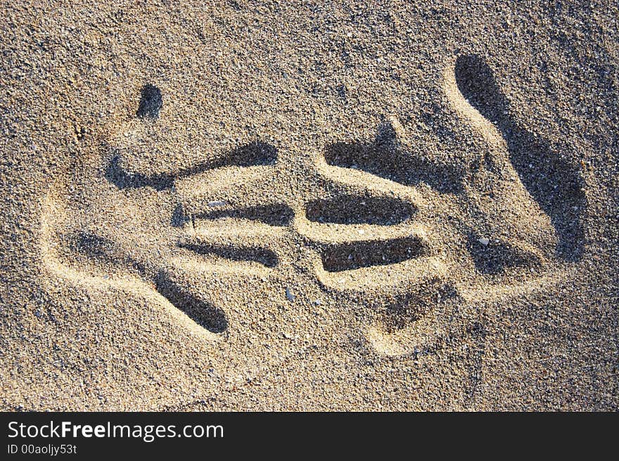
{"type": "Polygon", "coordinates": [[[509,101],[483,58],[460,56],[454,72],[462,96],[501,131],[523,184],[550,216],[559,237],[559,256],[580,259],[586,197],[577,167],[554,152],[547,140],[536,138],[513,118],[509,101]]]}

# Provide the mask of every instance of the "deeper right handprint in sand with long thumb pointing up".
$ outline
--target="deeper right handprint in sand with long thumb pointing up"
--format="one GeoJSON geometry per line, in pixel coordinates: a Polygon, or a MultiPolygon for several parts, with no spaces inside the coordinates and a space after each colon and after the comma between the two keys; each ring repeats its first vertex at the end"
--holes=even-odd
{"type": "Polygon", "coordinates": [[[511,116],[489,67],[458,58],[442,88],[433,121],[458,150],[385,117],[374,139],[326,147],[295,220],[321,283],[374,306],[385,353],[416,350],[402,342],[434,335],[437,316],[543,290],[582,253],[579,174],[511,116]]]}

